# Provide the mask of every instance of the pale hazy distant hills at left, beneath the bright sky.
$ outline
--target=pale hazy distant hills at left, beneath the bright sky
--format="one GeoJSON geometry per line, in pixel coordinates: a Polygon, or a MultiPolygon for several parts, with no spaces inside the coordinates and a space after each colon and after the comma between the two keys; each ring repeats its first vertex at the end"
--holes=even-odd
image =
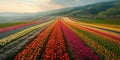
{"type": "Polygon", "coordinates": [[[0,12],[0,23],[31,21],[42,16],[40,13],[0,12]]]}

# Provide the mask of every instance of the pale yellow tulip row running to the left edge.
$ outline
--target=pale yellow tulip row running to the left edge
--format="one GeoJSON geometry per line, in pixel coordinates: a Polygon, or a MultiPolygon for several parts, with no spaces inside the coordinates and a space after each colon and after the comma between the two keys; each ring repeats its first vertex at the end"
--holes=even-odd
{"type": "Polygon", "coordinates": [[[34,26],[34,27],[30,27],[30,28],[24,29],[24,30],[22,30],[22,31],[20,31],[20,32],[17,32],[17,33],[15,33],[15,34],[12,34],[12,35],[10,35],[10,36],[7,36],[7,37],[5,37],[5,38],[2,38],[2,39],[0,39],[0,46],[4,46],[4,45],[6,45],[7,43],[13,41],[14,39],[17,39],[17,38],[19,38],[19,37],[22,37],[22,36],[24,36],[25,34],[31,32],[31,31],[33,31],[33,30],[35,30],[35,29],[37,29],[37,28],[41,28],[41,27],[43,27],[43,26],[45,26],[45,25],[48,25],[48,24],[50,24],[50,23],[52,23],[52,22],[53,22],[53,21],[49,21],[49,22],[46,22],[46,23],[43,23],[43,24],[40,24],[40,25],[37,25],[37,26],[34,26]]]}

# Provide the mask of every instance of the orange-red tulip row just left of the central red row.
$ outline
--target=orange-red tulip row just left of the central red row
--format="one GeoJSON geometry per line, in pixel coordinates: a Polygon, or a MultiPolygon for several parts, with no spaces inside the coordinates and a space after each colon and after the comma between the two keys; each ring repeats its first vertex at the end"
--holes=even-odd
{"type": "Polygon", "coordinates": [[[46,41],[49,33],[55,26],[56,22],[43,30],[32,42],[30,42],[22,51],[20,51],[14,60],[36,60],[40,54],[41,48],[46,41]]]}

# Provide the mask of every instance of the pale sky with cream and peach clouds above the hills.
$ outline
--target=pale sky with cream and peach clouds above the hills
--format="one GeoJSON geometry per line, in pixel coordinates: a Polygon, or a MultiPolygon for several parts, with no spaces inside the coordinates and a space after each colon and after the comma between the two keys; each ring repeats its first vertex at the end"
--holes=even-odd
{"type": "Polygon", "coordinates": [[[0,0],[0,12],[35,13],[110,0],[0,0]]]}

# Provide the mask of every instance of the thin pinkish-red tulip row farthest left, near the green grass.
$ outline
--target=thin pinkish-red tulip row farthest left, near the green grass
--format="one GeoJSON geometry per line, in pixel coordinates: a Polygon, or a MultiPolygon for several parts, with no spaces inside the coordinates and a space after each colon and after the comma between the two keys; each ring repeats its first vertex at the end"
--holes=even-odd
{"type": "Polygon", "coordinates": [[[3,29],[0,29],[0,33],[10,31],[10,30],[14,30],[14,29],[21,28],[21,27],[25,27],[25,26],[30,26],[30,25],[33,25],[33,24],[39,24],[39,23],[38,22],[32,22],[32,23],[20,24],[20,25],[16,25],[16,26],[3,28],[3,29]]]}

